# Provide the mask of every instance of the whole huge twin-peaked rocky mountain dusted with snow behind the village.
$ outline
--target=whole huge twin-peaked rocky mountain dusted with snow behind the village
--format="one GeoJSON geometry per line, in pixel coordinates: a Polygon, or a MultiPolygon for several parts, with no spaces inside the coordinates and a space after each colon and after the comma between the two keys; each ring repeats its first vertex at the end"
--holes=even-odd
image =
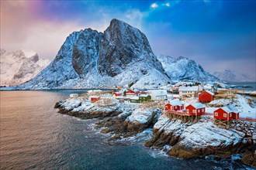
{"type": "Polygon", "coordinates": [[[104,33],[92,29],[71,33],[54,61],[18,88],[144,88],[170,81],[144,33],[112,19],[104,33]]]}

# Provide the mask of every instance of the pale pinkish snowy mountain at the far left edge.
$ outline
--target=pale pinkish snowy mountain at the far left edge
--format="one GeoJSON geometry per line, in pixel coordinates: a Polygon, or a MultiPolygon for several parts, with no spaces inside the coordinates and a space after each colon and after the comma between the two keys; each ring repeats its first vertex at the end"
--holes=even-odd
{"type": "Polygon", "coordinates": [[[40,59],[32,50],[20,49],[7,53],[1,49],[1,86],[16,86],[33,79],[49,65],[48,59],[40,59]]]}

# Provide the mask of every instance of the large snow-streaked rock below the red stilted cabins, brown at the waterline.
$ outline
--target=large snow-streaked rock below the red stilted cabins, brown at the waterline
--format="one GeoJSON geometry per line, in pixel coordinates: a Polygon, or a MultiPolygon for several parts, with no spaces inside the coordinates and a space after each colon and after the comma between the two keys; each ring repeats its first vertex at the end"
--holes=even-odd
{"type": "MultiPolygon", "coordinates": [[[[255,124],[248,126],[254,129],[255,124]]],[[[243,128],[238,130],[233,127],[220,128],[209,117],[202,117],[196,123],[185,123],[162,115],[154,124],[153,137],[144,145],[153,148],[170,145],[168,154],[178,158],[199,158],[206,155],[227,157],[253,145],[253,138],[249,139],[243,128]]]]}

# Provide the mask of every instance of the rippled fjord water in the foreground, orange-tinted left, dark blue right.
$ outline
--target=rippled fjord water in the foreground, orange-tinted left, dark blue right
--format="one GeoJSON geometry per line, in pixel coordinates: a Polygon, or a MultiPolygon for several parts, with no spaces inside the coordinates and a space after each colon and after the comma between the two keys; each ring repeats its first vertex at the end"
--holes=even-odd
{"type": "Polygon", "coordinates": [[[1,91],[1,169],[248,168],[236,157],[184,160],[133,145],[110,145],[92,121],[58,114],[54,104],[85,90],[1,91]]]}

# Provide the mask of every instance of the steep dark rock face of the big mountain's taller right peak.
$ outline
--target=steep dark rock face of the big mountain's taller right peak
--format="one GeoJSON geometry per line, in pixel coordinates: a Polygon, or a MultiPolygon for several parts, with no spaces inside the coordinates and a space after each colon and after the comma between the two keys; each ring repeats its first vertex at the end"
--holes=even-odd
{"type": "MultiPolygon", "coordinates": [[[[129,63],[157,62],[147,37],[139,29],[112,19],[102,36],[99,55],[99,73],[116,76],[129,63]]],[[[161,63],[157,63],[161,70],[161,63]]],[[[162,71],[162,70],[161,70],[162,71]]]]}

